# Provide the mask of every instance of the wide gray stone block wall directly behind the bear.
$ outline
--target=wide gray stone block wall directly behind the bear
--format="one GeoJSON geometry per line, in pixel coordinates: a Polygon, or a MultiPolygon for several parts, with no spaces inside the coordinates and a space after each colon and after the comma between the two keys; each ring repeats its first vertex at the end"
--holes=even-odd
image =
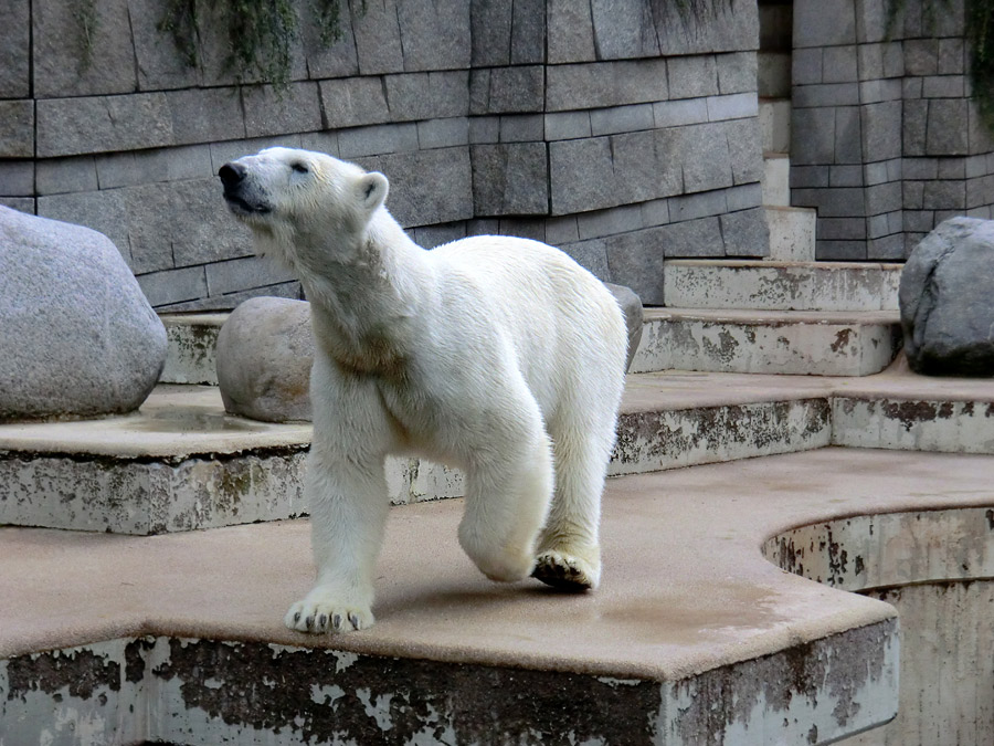
{"type": "Polygon", "coordinates": [[[299,294],[214,176],[275,144],[387,174],[422,245],[537,238],[647,303],[666,256],[768,251],[754,0],[353,0],[330,48],[300,0],[286,90],[228,71],[208,18],[187,66],[163,3],[95,3],[88,64],[78,3],[4,0],[0,30],[0,201],[106,233],[160,309],[299,294]]]}

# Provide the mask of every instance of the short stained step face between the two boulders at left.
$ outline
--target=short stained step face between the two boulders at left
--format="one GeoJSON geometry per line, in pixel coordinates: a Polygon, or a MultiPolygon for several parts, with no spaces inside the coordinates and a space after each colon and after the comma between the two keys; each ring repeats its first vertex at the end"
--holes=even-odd
{"type": "Polygon", "coordinates": [[[160,383],[218,385],[214,345],[230,314],[161,314],[168,351],[160,383]]]}

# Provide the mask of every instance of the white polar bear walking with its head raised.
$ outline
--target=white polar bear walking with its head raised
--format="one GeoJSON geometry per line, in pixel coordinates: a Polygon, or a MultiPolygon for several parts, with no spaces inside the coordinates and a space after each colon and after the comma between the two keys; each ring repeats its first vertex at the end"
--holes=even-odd
{"type": "Polygon", "coordinates": [[[459,543],[487,577],[595,587],[625,368],[611,293],[537,241],[425,251],[383,207],[382,174],[324,154],[268,148],[219,176],[257,253],[295,271],[311,304],[317,580],[286,624],[373,623],[388,454],[464,470],[459,543]]]}

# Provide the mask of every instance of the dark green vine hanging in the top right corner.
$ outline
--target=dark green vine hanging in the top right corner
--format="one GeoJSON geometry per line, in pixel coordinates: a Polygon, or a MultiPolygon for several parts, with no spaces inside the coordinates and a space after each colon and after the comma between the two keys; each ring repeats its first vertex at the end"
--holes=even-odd
{"type": "MultiPolygon", "coordinates": [[[[926,29],[933,30],[939,14],[951,10],[950,0],[920,1],[926,29]]],[[[895,35],[898,19],[903,14],[908,2],[909,0],[887,0],[888,36],[895,35]]],[[[963,0],[963,3],[973,101],[987,129],[994,133],[994,0],[963,0]]]]}

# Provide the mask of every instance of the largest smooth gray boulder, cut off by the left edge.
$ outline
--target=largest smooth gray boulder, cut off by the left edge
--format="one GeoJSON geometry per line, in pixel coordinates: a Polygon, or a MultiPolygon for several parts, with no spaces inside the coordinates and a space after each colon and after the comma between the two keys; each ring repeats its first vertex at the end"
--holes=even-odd
{"type": "Polygon", "coordinates": [[[137,409],[166,329],[115,245],[0,207],[0,421],[137,409]]]}

